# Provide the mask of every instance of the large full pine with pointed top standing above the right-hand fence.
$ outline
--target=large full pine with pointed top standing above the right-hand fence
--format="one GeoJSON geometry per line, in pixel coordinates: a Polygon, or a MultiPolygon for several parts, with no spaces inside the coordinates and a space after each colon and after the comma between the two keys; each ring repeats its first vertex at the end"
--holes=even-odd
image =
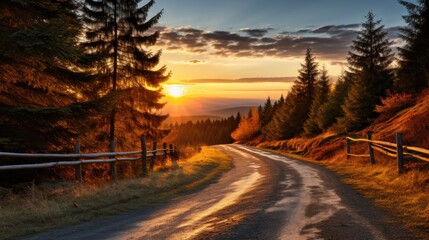
{"type": "Polygon", "coordinates": [[[387,32],[381,21],[375,21],[369,12],[367,21],[353,41],[349,52],[350,76],[353,79],[345,105],[345,127],[348,130],[360,129],[375,117],[374,108],[380,99],[393,87],[394,74],[390,65],[393,54],[387,39],[387,32]]]}

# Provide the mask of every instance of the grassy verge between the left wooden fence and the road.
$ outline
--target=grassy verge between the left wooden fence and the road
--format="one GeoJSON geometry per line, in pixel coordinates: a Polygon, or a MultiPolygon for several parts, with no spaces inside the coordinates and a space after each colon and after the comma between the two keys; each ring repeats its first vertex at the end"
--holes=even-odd
{"type": "Polygon", "coordinates": [[[37,186],[0,201],[0,239],[45,231],[165,202],[203,187],[232,168],[223,152],[203,148],[178,168],[101,186],[37,186]]]}

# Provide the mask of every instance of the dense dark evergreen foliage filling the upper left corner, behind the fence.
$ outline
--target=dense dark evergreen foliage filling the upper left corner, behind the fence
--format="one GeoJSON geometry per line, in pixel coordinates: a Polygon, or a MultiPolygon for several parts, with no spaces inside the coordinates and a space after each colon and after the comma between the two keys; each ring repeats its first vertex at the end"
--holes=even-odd
{"type": "Polygon", "coordinates": [[[67,149],[106,103],[93,92],[97,83],[78,45],[78,4],[5,0],[0,21],[0,148],[67,149]]]}

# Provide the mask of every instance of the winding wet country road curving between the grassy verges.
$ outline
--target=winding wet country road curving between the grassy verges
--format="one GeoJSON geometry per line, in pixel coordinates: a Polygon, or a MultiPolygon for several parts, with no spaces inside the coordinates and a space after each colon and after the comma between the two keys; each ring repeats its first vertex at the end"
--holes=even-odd
{"type": "Polygon", "coordinates": [[[331,171],[242,145],[235,167],[167,204],[26,239],[412,239],[331,171]]]}

